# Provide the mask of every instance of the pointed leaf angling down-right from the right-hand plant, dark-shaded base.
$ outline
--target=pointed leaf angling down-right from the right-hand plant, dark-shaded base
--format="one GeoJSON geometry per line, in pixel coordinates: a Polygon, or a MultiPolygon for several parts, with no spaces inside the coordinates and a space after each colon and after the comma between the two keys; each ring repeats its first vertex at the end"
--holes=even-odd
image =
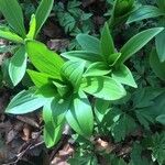
{"type": "Polygon", "coordinates": [[[113,69],[111,76],[113,79],[123,85],[128,85],[134,88],[138,87],[130,69],[125,65],[120,65],[117,69],[113,69]]]}

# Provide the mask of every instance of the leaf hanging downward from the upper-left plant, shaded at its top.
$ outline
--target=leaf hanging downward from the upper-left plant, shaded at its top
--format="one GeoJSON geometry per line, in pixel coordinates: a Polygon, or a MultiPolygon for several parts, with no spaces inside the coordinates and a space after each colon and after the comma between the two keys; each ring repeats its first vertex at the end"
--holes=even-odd
{"type": "Polygon", "coordinates": [[[9,63],[9,76],[13,86],[16,86],[22,80],[26,70],[26,59],[28,55],[24,46],[21,46],[11,57],[9,63]]]}

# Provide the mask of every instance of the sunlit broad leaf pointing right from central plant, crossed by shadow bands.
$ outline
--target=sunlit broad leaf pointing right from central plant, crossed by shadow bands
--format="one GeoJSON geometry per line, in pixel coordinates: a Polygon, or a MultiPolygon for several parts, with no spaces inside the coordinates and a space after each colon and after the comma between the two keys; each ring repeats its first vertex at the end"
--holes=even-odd
{"type": "Polygon", "coordinates": [[[118,100],[127,95],[123,86],[114,79],[106,76],[87,78],[81,84],[84,91],[103,100],[118,100]]]}

